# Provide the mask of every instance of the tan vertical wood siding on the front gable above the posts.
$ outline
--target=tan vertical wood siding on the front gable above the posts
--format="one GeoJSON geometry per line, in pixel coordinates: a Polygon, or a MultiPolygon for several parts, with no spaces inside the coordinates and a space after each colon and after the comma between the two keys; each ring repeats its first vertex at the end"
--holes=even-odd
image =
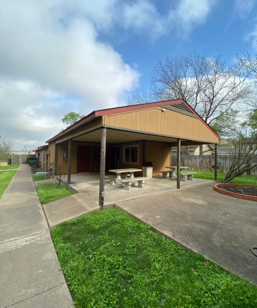
{"type": "Polygon", "coordinates": [[[106,117],[106,125],[163,134],[180,139],[217,143],[215,134],[199,119],[166,109],[138,110],[106,117]]]}

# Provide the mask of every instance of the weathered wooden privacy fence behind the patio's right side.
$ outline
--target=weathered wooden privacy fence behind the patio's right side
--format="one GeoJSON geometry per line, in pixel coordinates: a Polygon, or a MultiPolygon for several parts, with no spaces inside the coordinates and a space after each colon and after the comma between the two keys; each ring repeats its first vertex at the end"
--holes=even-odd
{"type": "MultiPolygon", "coordinates": [[[[217,162],[218,171],[227,173],[230,166],[230,156],[218,155],[217,162]]],[[[177,164],[177,157],[175,155],[171,157],[171,164],[172,166],[177,164]]],[[[214,155],[181,155],[180,165],[188,166],[190,170],[213,171],[214,155]]],[[[251,175],[257,175],[257,168],[251,169],[251,175]]]]}

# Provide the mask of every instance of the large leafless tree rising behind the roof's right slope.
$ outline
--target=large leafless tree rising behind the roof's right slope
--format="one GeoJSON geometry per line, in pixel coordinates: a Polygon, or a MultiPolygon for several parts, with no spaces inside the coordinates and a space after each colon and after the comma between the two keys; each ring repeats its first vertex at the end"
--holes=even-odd
{"type": "MultiPolygon", "coordinates": [[[[208,124],[226,114],[252,93],[249,73],[236,62],[230,66],[221,56],[211,59],[192,53],[160,60],[153,70],[152,90],[158,100],[183,99],[208,124]]],[[[200,149],[200,155],[203,149],[200,149]]]]}

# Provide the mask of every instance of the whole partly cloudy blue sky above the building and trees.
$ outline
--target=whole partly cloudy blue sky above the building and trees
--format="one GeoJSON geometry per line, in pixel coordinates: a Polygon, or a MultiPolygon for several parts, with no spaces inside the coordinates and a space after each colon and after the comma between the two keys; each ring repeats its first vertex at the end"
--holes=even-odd
{"type": "Polygon", "coordinates": [[[0,0],[0,136],[33,149],[63,115],[126,105],[159,59],[257,52],[257,0],[0,0]]]}

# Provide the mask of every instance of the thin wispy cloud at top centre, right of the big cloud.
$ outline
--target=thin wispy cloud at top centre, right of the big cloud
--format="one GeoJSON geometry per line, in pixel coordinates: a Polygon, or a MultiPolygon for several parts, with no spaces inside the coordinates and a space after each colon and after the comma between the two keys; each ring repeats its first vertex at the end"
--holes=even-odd
{"type": "Polygon", "coordinates": [[[161,14],[151,1],[137,0],[124,4],[120,23],[139,33],[145,31],[152,40],[171,31],[188,34],[206,21],[215,4],[214,0],[180,0],[161,14]]]}

